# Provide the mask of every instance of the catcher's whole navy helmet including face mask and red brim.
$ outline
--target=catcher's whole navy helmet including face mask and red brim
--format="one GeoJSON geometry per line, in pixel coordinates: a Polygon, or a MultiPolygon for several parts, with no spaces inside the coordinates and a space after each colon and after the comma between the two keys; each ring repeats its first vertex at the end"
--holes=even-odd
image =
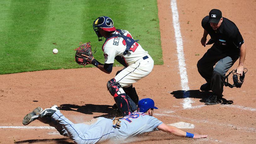
{"type": "Polygon", "coordinates": [[[114,22],[111,18],[107,16],[100,16],[93,22],[93,30],[96,32],[99,41],[103,40],[103,36],[98,31],[98,28],[102,28],[105,31],[115,31],[114,22]]]}

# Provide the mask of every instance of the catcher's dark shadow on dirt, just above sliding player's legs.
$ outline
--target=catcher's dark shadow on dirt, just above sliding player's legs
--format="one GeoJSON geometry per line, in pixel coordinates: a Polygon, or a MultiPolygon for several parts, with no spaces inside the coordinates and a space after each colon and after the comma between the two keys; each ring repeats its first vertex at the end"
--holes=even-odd
{"type": "Polygon", "coordinates": [[[113,117],[121,117],[121,113],[117,109],[113,109],[110,105],[95,105],[95,104],[85,104],[82,106],[75,104],[62,104],[59,107],[60,110],[66,111],[75,111],[83,114],[93,114],[93,113],[104,113],[100,116],[94,116],[93,118],[105,117],[105,118],[113,118],[113,117]]]}

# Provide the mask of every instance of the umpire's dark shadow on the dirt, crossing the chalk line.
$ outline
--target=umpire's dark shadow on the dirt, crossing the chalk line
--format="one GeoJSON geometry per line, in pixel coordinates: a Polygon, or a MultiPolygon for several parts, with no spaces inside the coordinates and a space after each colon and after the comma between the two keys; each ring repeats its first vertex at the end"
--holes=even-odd
{"type": "MultiPolygon", "coordinates": [[[[189,91],[173,91],[170,94],[172,94],[175,98],[186,98],[186,97],[190,97],[190,98],[198,98],[201,99],[199,100],[199,102],[204,102],[207,100],[208,97],[210,97],[213,92],[211,91],[199,91],[199,90],[189,90],[189,91]]],[[[220,104],[232,104],[233,101],[232,100],[226,100],[225,98],[222,97],[221,99],[221,103],[220,104]]]]}

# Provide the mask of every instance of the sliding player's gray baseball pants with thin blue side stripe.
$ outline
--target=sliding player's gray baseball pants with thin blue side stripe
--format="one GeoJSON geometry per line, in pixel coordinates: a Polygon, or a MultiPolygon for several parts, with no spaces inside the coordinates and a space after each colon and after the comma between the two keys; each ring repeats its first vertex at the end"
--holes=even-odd
{"type": "Polygon", "coordinates": [[[59,110],[52,117],[38,120],[55,127],[61,135],[70,137],[78,144],[103,142],[115,137],[118,132],[118,129],[113,128],[111,119],[99,117],[84,123],[74,124],[65,118],[59,110]]]}

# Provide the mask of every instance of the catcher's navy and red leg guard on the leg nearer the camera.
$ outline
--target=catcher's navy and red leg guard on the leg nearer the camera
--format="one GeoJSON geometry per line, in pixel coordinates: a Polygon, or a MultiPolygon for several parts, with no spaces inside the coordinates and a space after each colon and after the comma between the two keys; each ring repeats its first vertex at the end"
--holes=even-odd
{"type": "Polygon", "coordinates": [[[128,96],[126,96],[125,91],[121,88],[119,83],[115,79],[108,81],[107,88],[109,93],[114,97],[117,108],[121,111],[123,116],[132,113],[130,108],[130,102],[128,96]]]}

